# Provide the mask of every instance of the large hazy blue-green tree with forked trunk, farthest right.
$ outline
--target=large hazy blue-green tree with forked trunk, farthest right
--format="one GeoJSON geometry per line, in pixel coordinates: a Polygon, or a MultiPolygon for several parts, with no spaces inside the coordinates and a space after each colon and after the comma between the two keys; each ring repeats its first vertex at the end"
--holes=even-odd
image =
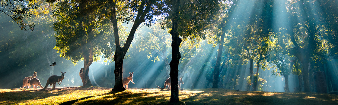
{"type": "MultiPolygon", "coordinates": [[[[304,73],[304,91],[311,92],[309,81],[311,77],[309,75],[312,75],[310,72],[312,72],[313,69],[310,68],[311,65],[309,65],[309,63],[311,63],[313,59],[319,59],[318,57],[322,55],[322,52],[325,52],[320,51],[319,46],[322,45],[320,39],[328,35],[328,37],[326,37],[328,39],[326,40],[331,40],[329,37],[333,34],[329,31],[322,30],[326,30],[327,26],[330,27],[330,24],[334,23],[332,20],[336,20],[336,17],[325,14],[332,13],[335,15],[337,13],[336,9],[330,8],[331,6],[337,8],[337,6],[333,2],[331,5],[326,5],[322,1],[312,2],[308,0],[291,1],[287,3],[287,10],[290,14],[290,25],[287,32],[294,45],[293,48],[288,50],[288,53],[297,57],[301,62],[302,71],[304,73]]],[[[334,45],[334,42],[332,44],[334,45]]],[[[334,47],[332,48],[334,49],[334,47]]]]}

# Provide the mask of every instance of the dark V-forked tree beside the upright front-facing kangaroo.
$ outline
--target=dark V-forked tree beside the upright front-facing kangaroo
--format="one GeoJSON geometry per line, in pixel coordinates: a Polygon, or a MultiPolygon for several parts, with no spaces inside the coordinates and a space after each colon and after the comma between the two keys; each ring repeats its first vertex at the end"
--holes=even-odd
{"type": "MultiPolygon", "coordinates": [[[[141,1],[129,1],[126,3],[126,5],[129,5],[129,9],[131,11],[134,11],[135,13],[137,13],[137,15],[135,17],[133,17],[134,19],[134,24],[129,32],[128,38],[125,42],[125,44],[123,45],[123,47],[121,47],[120,44],[120,39],[119,39],[119,33],[118,33],[118,27],[117,27],[117,9],[118,9],[118,1],[114,1],[114,0],[110,0],[109,1],[109,5],[111,5],[110,9],[110,19],[111,19],[111,23],[113,25],[114,28],[114,38],[115,38],[115,55],[114,55],[114,61],[115,61],[115,85],[114,88],[112,89],[112,91],[124,91],[125,88],[122,85],[122,68],[123,68],[123,59],[124,56],[126,55],[130,45],[131,45],[131,41],[134,39],[134,35],[135,32],[137,30],[137,28],[139,27],[139,25],[143,22],[148,22],[147,26],[150,26],[152,21],[153,21],[153,15],[159,15],[159,12],[156,12],[155,10],[153,10],[154,8],[151,6],[154,3],[158,3],[158,2],[154,2],[152,0],[141,0],[141,1]],[[153,11],[151,11],[153,10],[153,11]],[[154,13],[154,14],[150,14],[150,12],[154,13]]],[[[156,5],[156,4],[154,4],[156,5]]],[[[161,9],[160,9],[161,10],[161,9]]],[[[124,17],[123,17],[124,18],[124,17]]],[[[129,21],[131,19],[130,17],[126,17],[124,18],[126,19],[125,21],[129,21]]]]}

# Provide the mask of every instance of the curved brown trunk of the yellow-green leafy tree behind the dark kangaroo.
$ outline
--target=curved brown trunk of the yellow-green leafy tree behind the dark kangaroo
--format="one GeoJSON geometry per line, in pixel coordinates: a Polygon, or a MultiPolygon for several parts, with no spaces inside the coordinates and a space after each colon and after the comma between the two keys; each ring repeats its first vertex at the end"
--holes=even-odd
{"type": "Polygon", "coordinates": [[[89,79],[89,66],[93,63],[93,47],[92,43],[88,43],[89,45],[84,45],[82,47],[82,56],[84,59],[84,68],[81,68],[80,70],[80,78],[82,80],[82,86],[81,88],[86,88],[89,86],[93,86],[92,82],[89,79]]]}

